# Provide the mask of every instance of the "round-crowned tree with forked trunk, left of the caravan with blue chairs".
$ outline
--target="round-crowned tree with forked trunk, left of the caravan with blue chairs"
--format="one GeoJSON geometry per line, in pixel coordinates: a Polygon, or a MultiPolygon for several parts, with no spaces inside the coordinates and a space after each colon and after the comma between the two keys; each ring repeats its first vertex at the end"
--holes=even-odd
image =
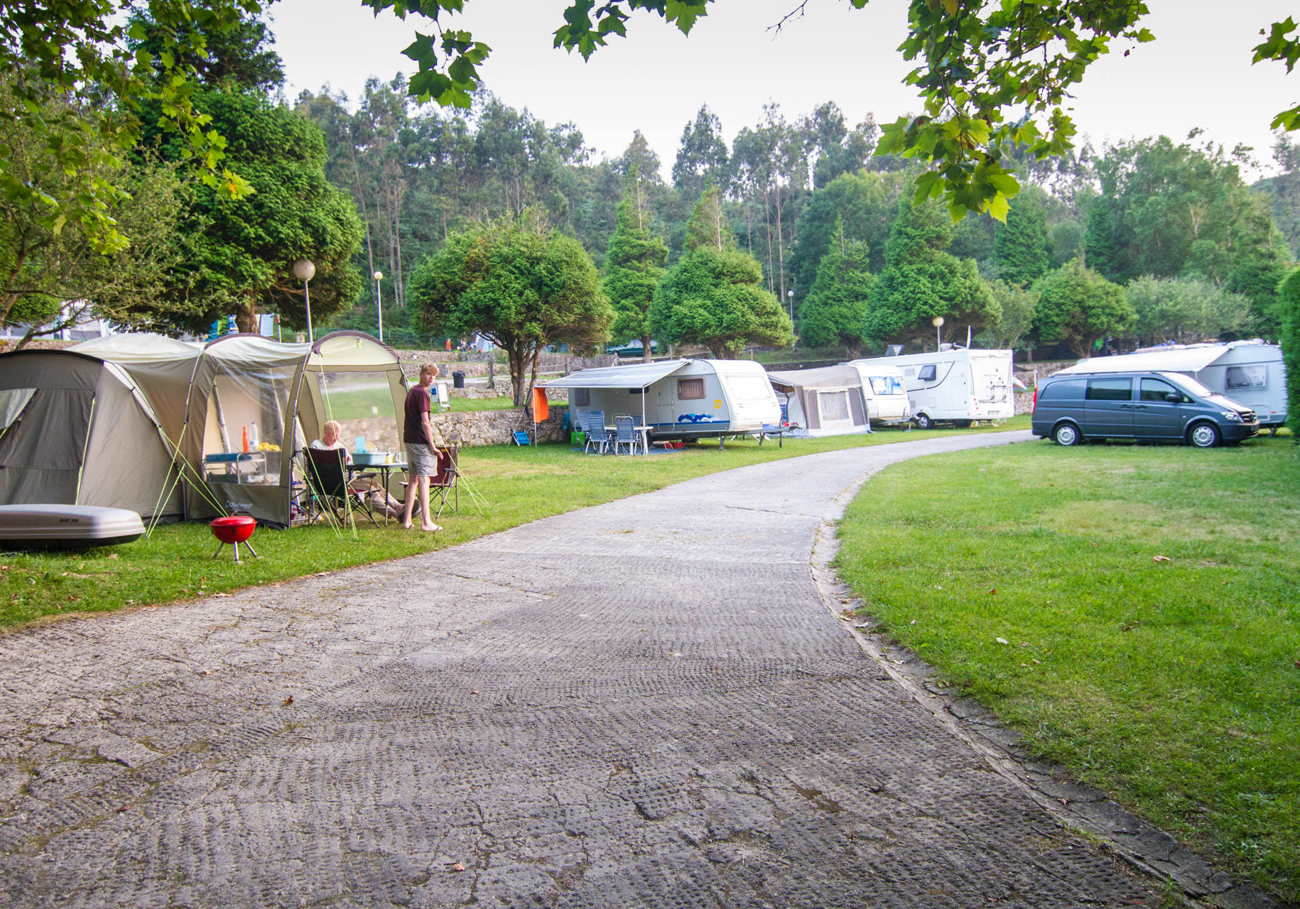
{"type": "Polygon", "coordinates": [[[592,256],[533,211],[452,233],[415,270],[411,302],[426,326],[477,332],[504,350],[516,406],[532,395],[543,347],[602,343],[614,324],[592,256]]]}

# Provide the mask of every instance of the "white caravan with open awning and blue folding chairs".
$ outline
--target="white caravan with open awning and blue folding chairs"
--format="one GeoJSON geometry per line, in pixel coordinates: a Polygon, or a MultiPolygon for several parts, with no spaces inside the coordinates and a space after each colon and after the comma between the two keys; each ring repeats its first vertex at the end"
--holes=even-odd
{"type": "Polygon", "coordinates": [[[655,441],[690,441],[758,432],[781,420],[763,367],[753,360],[664,360],[582,369],[540,388],[569,390],[569,423],[602,411],[627,414],[650,427],[655,441]]]}

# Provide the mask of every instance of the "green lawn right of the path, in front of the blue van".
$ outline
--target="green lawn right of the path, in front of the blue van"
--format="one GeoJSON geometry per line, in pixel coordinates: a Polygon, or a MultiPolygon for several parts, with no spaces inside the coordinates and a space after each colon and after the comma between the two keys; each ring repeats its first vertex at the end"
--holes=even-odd
{"type": "Polygon", "coordinates": [[[926,458],[867,484],[840,533],[866,611],[945,680],[1078,778],[1300,899],[1290,438],[926,458]]]}

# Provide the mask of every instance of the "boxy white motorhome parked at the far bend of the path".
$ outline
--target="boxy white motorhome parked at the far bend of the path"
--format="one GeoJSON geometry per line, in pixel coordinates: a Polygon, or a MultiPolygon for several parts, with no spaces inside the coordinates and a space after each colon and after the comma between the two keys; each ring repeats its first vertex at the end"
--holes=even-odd
{"type": "Polygon", "coordinates": [[[858,368],[893,367],[907,386],[911,419],[919,429],[937,423],[968,427],[976,420],[1015,416],[1011,351],[944,345],[933,354],[852,360],[858,368]]]}

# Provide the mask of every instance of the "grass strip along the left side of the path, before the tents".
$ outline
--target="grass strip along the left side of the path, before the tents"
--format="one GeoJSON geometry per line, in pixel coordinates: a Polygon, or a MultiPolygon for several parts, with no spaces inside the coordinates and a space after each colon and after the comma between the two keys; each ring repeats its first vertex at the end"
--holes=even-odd
{"type": "MultiPolygon", "coordinates": [[[[458,402],[459,404],[460,402],[458,402]]],[[[1023,429],[1028,417],[1005,429],[1023,429]]],[[[861,445],[884,445],[974,430],[881,429],[871,436],[786,440],[784,447],[753,440],[688,445],[649,458],[588,458],[568,445],[463,449],[464,477],[486,501],[480,512],[462,492],[460,514],[443,512],[442,533],[403,531],[369,523],[339,536],[326,525],[259,531],[252,542],[263,557],[235,566],[229,547],[213,559],[216,540],[207,523],[170,524],[152,536],[114,547],[74,553],[0,554],[0,629],[60,615],[161,605],[177,599],[269,584],[320,571],[402,558],[495,533],[538,518],[610,502],[692,477],[777,458],[861,445]]]]}

